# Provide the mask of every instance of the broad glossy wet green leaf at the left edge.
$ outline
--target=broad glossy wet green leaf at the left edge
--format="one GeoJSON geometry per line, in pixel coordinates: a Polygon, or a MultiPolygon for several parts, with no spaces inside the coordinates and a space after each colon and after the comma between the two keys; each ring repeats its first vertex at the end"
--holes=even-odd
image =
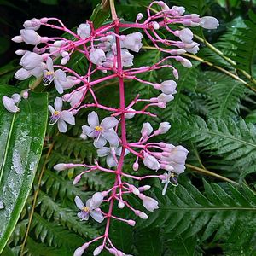
{"type": "MultiPolygon", "coordinates": [[[[2,85],[0,98],[17,92],[2,85]]],[[[41,156],[48,109],[47,94],[30,92],[22,99],[19,113],[9,113],[0,103],[0,252],[3,250],[26,198],[32,188],[33,178],[41,156]]]]}

